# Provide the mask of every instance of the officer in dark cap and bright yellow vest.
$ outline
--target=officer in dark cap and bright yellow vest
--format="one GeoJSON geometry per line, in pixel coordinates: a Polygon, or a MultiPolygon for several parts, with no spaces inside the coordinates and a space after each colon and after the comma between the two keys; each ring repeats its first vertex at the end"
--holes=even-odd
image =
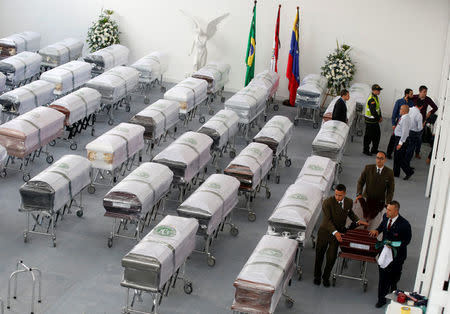
{"type": "Polygon", "coordinates": [[[364,121],[366,123],[366,133],[364,134],[364,150],[363,153],[372,156],[378,153],[378,144],[380,143],[380,123],[383,121],[380,108],[380,95],[382,88],[378,84],[372,85],[372,94],[366,102],[364,111],[364,121]],[[372,149],[370,149],[372,144],[372,149]]]}

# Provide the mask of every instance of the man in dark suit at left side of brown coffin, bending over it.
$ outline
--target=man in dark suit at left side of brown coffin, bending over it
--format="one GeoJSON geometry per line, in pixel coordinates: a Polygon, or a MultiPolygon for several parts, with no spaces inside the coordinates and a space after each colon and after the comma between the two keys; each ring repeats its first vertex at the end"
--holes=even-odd
{"type": "Polygon", "coordinates": [[[314,265],[314,284],[320,285],[322,277],[323,285],[330,286],[330,274],[337,258],[339,242],[342,241],[342,233],[345,233],[347,217],[358,225],[367,226],[367,222],[359,220],[353,213],[353,200],[345,197],[346,188],[338,184],[334,196],[327,198],[322,204],[323,219],[317,233],[316,261],[314,265]],[[323,258],[327,254],[327,261],[322,275],[323,258]]]}

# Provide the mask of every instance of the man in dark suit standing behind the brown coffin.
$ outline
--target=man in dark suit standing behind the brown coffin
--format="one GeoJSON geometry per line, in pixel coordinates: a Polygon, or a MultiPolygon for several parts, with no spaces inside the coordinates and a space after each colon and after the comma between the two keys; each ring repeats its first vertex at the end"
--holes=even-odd
{"type": "Polygon", "coordinates": [[[358,179],[356,198],[366,199],[368,212],[364,218],[368,220],[375,218],[394,197],[394,171],[386,167],[385,162],[386,153],[379,151],[375,164],[365,166],[358,179]]]}

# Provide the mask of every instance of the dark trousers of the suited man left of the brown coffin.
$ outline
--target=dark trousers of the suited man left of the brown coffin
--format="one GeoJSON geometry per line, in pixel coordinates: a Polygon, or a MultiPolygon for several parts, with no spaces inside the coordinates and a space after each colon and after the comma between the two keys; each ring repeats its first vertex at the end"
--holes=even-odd
{"type": "Polygon", "coordinates": [[[334,263],[336,262],[338,248],[339,241],[336,237],[327,230],[319,229],[319,232],[317,233],[314,279],[320,280],[321,277],[324,280],[330,279],[331,271],[333,270],[334,263]],[[327,261],[322,275],[322,265],[325,253],[327,256],[327,261]]]}

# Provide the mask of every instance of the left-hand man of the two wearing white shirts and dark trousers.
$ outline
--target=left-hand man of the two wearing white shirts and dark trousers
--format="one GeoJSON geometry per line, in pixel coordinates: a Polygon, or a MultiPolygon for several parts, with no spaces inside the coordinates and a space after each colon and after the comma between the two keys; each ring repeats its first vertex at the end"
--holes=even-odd
{"type": "Polygon", "coordinates": [[[414,174],[414,170],[409,166],[408,156],[406,155],[408,147],[409,129],[411,126],[408,105],[400,107],[400,120],[394,130],[395,135],[395,151],[394,151],[394,177],[400,176],[402,169],[406,176],[404,180],[408,180],[414,174]]]}

